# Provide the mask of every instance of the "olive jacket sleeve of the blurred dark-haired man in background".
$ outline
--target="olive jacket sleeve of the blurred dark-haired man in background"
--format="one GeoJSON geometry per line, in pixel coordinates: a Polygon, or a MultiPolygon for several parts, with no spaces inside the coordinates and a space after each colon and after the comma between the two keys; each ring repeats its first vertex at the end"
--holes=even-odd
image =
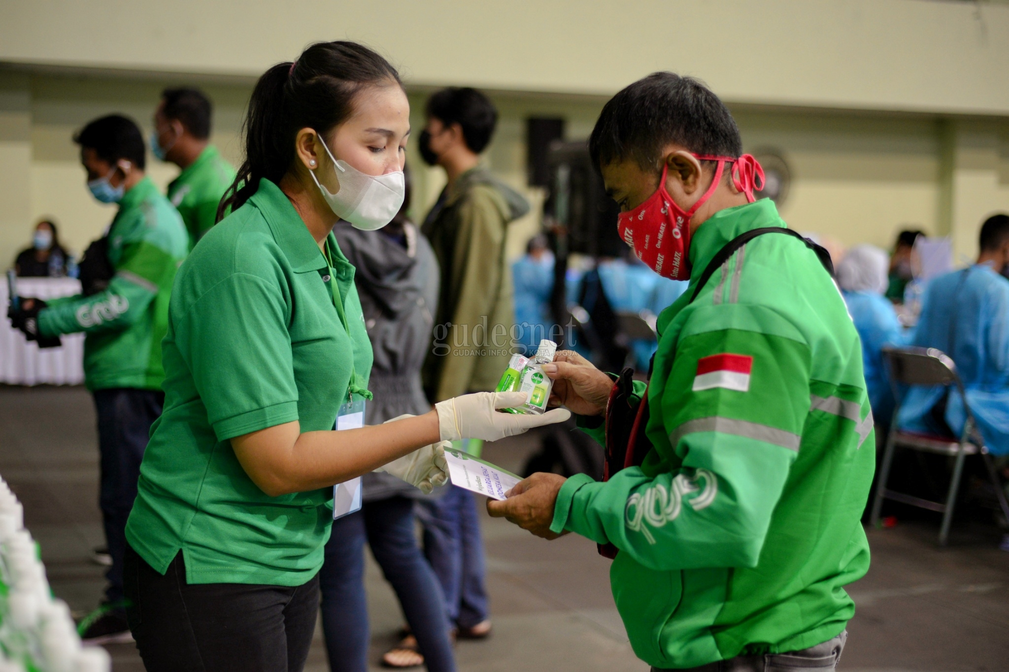
{"type": "MultiPolygon", "coordinates": [[[[506,223],[488,189],[473,187],[459,204],[458,240],[449,282],[451,295],[458,297],[452,313],[453,329],[462,329],[465,334],[453,331],[449,338],[453,346],[464,343],[463,350],[476,347],[474,327],[489,319],[504,272],[500,261],[506,223]]],[[[475,356],[450,351],[445,357],[436,397],[449,399],[468,392],[476,360],[475,356]]]]}

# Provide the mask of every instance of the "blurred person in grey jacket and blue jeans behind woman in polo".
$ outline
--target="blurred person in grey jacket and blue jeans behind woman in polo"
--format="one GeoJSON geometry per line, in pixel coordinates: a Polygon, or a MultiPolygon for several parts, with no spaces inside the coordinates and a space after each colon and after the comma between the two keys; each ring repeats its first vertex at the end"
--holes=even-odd
{"type": "MultiPolygon", "coordinates": [[[[404,167],[406,194],[393,221],[378,231],[336,227],[340,250],[354,267],[364,326],[374,361],[365,422],[381,424],[405,413],[431,410],[421,384],[421,366],[431,345],[438,301],[438,262],[431,244],[407,218],[410,171],[404,167]]],[[[333,672],[365,672],[371,639],[364,592],[364,542],[396,590],[411,629],[382,657],[385,667],[427,665],[431,672],[452,672],[455,660],[438,577],[415,536],[414,502],[424,494],[389,474],[363,477],[361,510],[333,521],[326,559],[319,571],[322,628],[333,672]]],[[[439,488],[428,497],[447,492],[439,488]]]]}

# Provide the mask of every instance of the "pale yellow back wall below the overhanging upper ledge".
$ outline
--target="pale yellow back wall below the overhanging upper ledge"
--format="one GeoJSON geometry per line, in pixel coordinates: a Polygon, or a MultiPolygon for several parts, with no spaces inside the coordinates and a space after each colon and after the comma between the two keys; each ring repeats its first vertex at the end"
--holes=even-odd
{"type": "MultiPolygon", "coordinates": [[[[197,81],[200,78],[195,78],[197,81]]],[[[68,247],[79,253],[108,225],[114,209],[97,204],[84,185],[75,130],[122,112],[150,130],[159,91],[194,78],[73,76],[0,72],[0,266],[30,240],[33,222],[53,217],[68,247]]],[[[251,83],[200,83],[214,99],[214,141],[241,157],[238,131],[251,83]]],[[[523,190],[533,213],[513,227],[512,256],[539,227],[543,193],[526,186],[525,120],[560,116],[568,139],[583,139],[603,97],[489,92],[500,111],[487,162],[523,190]]],[[[423,126],[426,93],[410,96],[414,128],[423,126]]],[[[958,255],[973,256],[982,218],[1009,211],[1009,121],[893,113],[735,106],[747,151],[772,149],[788,161],[793,184],[782,214],[797,230],[845,245],[888,247],[903,225],[951,234],[958,255]]],[[[416,134],[415,134],[416,135],[416,134]]],[[[415,140],[416,142],[416,140],[415,140]]],[[[414,215],[423,217],[444,184],[439,169],[417,160],[414,215]]],[[[148,155],[148,172],[162,187],[177,170],[148,155]]]]}

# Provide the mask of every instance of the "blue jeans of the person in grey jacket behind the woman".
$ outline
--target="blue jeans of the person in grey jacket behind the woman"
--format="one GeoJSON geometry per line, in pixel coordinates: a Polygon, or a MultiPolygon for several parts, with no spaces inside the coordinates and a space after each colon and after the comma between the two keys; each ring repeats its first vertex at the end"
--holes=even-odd
{"type": "Polygon", "coordinates": [[[405,497],[365,502],[333,521],[319,572],[322,628],[332,672],[368,669],[364,541],[396,590],[430,672],[454,672],[455,658],[441,586],[414,537],[414,502],[405,497]]]}

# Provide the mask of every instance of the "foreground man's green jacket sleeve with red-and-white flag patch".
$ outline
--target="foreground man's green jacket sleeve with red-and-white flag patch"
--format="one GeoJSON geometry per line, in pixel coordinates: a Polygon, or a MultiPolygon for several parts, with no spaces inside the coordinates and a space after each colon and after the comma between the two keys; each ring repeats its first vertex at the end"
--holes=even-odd
{"type": "MultiPolygon", "coordinates": [[[[782,320],[761,313],[752,321],[782,320]]],[[[660,413],[668,435],[650,454],[658,459],[606,483],[569,479],[552,529],[610,542],[657,570],[756,566],[798,454],[809,360],[806,344],[772,333],[716,328],[682,338],[661,395],[649,395],[649,426],[660,413]]]]}

